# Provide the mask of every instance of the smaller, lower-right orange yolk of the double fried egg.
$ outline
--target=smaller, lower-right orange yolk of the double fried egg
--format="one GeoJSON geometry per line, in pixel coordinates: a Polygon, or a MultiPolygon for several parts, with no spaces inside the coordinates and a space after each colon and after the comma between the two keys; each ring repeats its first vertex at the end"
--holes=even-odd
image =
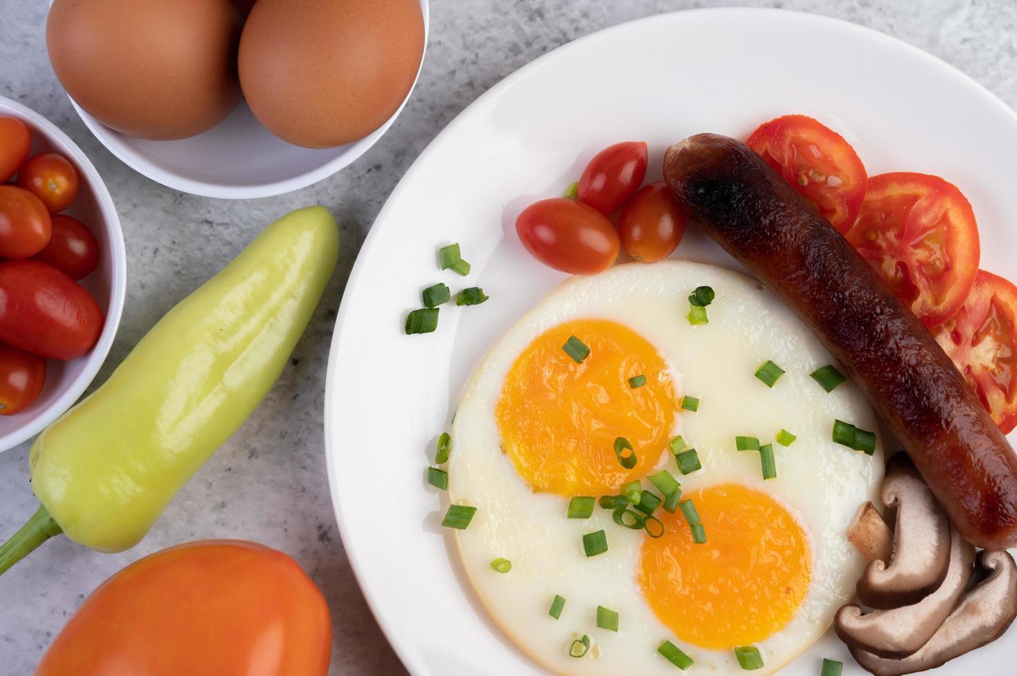
{"type": "Polygon", "coordinates": [[[787,509],[760,491],[724,484],[692,495],[706,530],[693,542],[681,510],[657,515],[639,581],[657,618],[683,641],[730,650],[763,640],[790,621],[809,591],[812,553],[787,509]]]}

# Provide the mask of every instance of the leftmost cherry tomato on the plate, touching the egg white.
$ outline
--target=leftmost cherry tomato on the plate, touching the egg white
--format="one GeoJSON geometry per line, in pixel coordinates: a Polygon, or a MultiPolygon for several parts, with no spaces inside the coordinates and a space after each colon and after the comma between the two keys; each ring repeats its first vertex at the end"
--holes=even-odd
{"type": "Polygon", "coordinates": [[[618,231],[604,216],[567,197],[530,204],[516,219],[516,232],[533,257],[572,274],[595,274],[621,250],[618,231]]]}

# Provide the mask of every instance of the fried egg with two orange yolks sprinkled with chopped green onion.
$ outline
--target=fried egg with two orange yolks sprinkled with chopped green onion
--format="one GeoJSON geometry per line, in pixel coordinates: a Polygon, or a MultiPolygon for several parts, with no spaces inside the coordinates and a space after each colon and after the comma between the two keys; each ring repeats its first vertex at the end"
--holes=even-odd
{"type": "Polygon", "coordinates": [[[741,673],[735,648],[759,651],[757,674],[790,662],[851,597],[864,561],[845,531],[883,477],[879,442],[866,455],[832,440],[835,420],[878,429],[850,381],[827,392],[810,377],[832,362],[737,272],[668,261],[566,281],[487,354],[453,423],[447,500],[477,509],[455,534],[491,617],[556,673],[680,673],[661,646],[696,673],[741,673]],[[694,325],[689,296],[704,286],[709,322],[694,325]],[[784,371],[773,386],[756,376],[767,361],[784,371]],[[782,430],[789,445],[775,440],[782,430]],[[772,444],[775,478],[736,436],[772,444]],[[624,464],[619,437],[635,454],[624,464]],[[695,448],[701,468],[681,474],[672,445],[695,448]],[[653,511],[656,538],[599,505],[567,517],[573,497],[635,480],[666,497],[648,480],[661,470],[696,507],[705,543],[683,508],[653,511]],[[588,555],[599,532],[606,551],[588,555]]]}

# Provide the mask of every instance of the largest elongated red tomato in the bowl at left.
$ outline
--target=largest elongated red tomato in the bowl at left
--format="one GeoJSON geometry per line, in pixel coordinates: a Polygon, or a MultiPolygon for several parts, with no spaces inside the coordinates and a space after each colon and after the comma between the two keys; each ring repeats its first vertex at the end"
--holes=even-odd
{"type": "Polygon", "coordinates": [[[77,359],[103,329],[87,291],[41,260],[0,263],[0,341],[51,359],[77,359]]]}

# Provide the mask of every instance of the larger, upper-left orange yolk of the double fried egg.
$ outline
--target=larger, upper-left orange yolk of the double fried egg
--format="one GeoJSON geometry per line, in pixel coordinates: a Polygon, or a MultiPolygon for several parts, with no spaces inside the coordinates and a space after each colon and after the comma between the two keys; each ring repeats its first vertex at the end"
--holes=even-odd
{"type": "Polygon", "coordinates": [[[614,321],[580,319],[535,339],[505,377],[495,420],[501,444],[535,491],[558,495],[616,493],[660,459],[678,407],[664,360],[642,335],[614,321]],[[575,335],[582,361],[562,346],[575,335]],[[646,384],[629,380],[644,376],[646,384]],[[621,466],[614,440],[636,452],[621,466]]]}

